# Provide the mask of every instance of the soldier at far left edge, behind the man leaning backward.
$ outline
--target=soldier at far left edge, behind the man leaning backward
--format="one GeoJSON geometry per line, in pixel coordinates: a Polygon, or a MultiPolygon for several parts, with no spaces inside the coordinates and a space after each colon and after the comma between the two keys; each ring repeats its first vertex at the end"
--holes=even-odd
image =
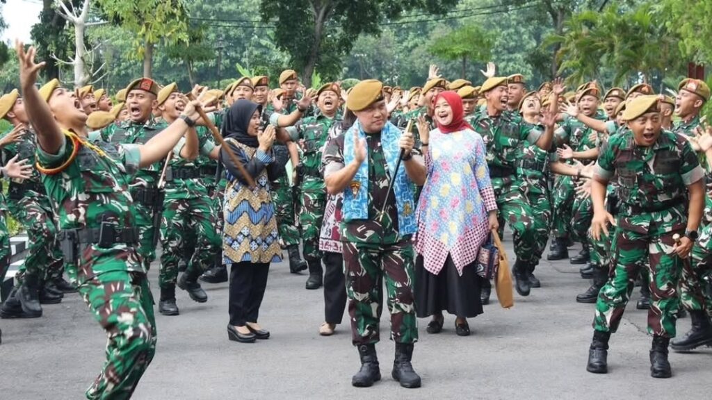
{"type": "MultiPolygon", "coordinates": [[[[8,136],[7,139],[13,141],[3,146],[4,159],[19,156],[34,164],[35,134],[28,129],[22,98],[17,90],[13,90],[0,101],[10,106],[4,107],[0,115],[0,119],[11,124],[3,137],[8,136]]],[[[41,317],[41,304],[61,302],[63,291],[70,292],[73,288],[62,278],[63,260],[57,247],[57,228],[38,172],[34,171],[28,179],[11,180],[8,199],[9,210],[23,224],[29,243],[28,254],[15,275],[16,296],[22,312],[16,314],[4,309],[0,310],[0,317],[41,317]]]]}

